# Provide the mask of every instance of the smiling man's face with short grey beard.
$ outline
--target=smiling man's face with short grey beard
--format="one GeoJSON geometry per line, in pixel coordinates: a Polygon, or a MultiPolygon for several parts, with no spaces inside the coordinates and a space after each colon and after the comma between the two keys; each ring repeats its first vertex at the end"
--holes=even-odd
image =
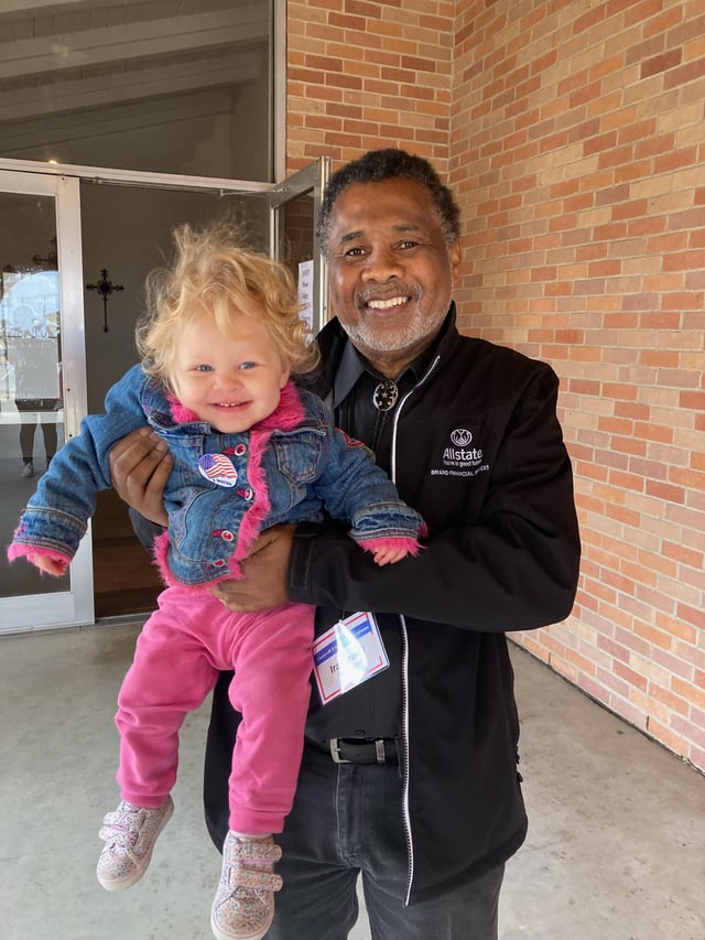
{"type": "Polygon", "coordinates": [[[328,245],[333,311],[360,353],[394,378],[443,324],[459,246],[446,246],[429,190],[401,177],[345,190],[328,245]]]}

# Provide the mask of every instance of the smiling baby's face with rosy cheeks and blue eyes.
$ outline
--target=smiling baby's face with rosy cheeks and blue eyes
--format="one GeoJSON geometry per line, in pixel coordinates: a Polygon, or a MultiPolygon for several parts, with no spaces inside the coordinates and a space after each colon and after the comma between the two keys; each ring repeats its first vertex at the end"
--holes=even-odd
{"type": "Polygon", "coordinates": [[[230,322],[227,336],[207,312],[184,327],[171,376],[181,403],[224,434],[268,418],[289,379],[261,323],[237,311],[230,322]]]}

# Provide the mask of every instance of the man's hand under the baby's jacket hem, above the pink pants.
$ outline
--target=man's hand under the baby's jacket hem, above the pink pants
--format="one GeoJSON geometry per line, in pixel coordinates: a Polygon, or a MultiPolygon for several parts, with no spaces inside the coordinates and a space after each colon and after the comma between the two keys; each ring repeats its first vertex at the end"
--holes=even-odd
{"type": "Polygon", "coordinates": [[[262,532],[242,562],[242,577],[219,581],[212,593],[230,611],[251,614],[279,607],[286,597],[291,543],[296,526],[273,526],[262,532]]]}

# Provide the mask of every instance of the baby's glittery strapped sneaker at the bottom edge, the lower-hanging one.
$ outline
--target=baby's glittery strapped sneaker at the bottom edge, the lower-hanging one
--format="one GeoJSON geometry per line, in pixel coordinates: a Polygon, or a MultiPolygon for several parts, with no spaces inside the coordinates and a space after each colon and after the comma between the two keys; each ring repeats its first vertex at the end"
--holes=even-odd
{"type": "Polygon", "coordinates": [[[242,839],[228,832],[223,874],[213,901],[210,927],[218,940],[260,940],[274,919],[273,892],[282,886],[273,864],[282,857],[274,840],[242,839]]]}

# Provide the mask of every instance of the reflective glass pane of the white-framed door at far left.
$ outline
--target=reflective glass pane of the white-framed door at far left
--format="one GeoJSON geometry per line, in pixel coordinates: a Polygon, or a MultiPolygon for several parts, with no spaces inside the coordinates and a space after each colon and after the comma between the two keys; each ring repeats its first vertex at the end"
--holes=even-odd
{"type": "MultiPolygon", "coordinates": [[[[0,505],[2,544],[64,442],[54,199],[0,196],[0,505]],[[44,257],[43,257],[44,255],[44,257]]],[[[23,559],[0,559],[0,596],[68,590],[23,559]]]]}

